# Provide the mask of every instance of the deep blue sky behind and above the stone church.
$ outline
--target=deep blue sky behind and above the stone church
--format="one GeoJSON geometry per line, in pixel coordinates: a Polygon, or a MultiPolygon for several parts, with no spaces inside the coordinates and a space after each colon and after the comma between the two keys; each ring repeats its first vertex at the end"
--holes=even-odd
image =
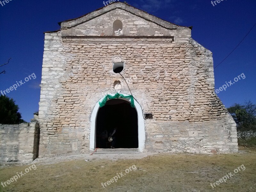
{"type": "MultiPolygon", "coordinates": [[[[121,0],[120,0],[121,1],[121,0]]],[[[122,1],[123,2],[123,1],[122,1]]],[[[217,66],[243,39],[256,22],[255,0],[126,0],[136,8],[183,26],[193,26],[192,37],[213,53],[217,66]]],[[[0,4],[0,90],[6,90],[35,73],[36,78],[6,95],[30,121],[38,110],[44,50],[44,31],[60,28],[58,22],[73,19],[103,7],[103,0],[12,0],[0,4]]],[[[256,103],[256,26],[238,48],[214,69],[215,89],[244,73],[245,78],[221,91],[226,107],[251,100],[256,103]]]]}

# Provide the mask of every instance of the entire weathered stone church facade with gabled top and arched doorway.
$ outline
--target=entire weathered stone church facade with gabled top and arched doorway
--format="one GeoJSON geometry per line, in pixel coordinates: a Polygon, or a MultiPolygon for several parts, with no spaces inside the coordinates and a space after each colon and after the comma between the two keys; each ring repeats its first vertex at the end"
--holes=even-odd
{"type": "Polygon", "coordinates": [[[212,52],[191,27],[121,2],[59,24],[45,32],[39,156],[105,148],[97,143],[104,126],[139,152],[237,152],[236,123],[214,92],[212,52]]]}

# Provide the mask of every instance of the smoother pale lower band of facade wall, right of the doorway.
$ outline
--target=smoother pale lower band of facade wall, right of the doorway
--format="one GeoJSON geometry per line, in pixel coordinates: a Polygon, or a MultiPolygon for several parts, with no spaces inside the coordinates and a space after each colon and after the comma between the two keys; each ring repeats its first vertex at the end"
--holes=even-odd
{"type": "Polygon", "coordinates": [[[237,152],[236,123],[230,116],[204,122],[146,121],[147,151],[237,152]]]}

